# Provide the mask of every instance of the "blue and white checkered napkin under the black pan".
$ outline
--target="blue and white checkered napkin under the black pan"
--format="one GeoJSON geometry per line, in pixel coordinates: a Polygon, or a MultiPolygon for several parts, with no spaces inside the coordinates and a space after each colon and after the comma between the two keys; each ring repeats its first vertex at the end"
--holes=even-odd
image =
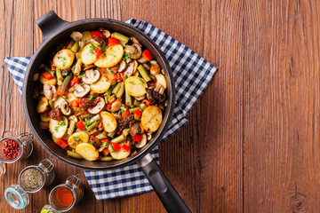
{"type": "MultiPolygon", "coordinates": [[[[176,104],[172,123],[161,141],[164,142],[187,124],[186,115],[211,81],[216,67],[147,22],[133,19],[126,22],[140,28],[151,37],[164,51],[164,55],[168,59],[170,67],[172,67],[176,86],[176,104]]],[[[20,92],[22,91],[23,77],[29,60],[29,57],[6,58],[4,60],[20,92]]],[[[159,162],[158,146],[151,154],[156,162],[159,162]]],[[[146,193],[153,190],[147,178],[138,168],[138,164],[132,164],[118,170],[84,171],[84,174],[98,200],[146,193]]]]}

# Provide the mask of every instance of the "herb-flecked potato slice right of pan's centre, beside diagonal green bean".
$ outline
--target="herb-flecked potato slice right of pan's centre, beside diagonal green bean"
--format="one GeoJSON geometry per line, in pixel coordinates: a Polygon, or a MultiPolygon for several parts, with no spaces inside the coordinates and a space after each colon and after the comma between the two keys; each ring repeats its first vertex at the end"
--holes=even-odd
{"type": "Polygon", "coordinates": [[[125,90],[133,97],[140,97],[146,94],[148,84],[140,77],[130,76],[125,80],[125,90]]]}

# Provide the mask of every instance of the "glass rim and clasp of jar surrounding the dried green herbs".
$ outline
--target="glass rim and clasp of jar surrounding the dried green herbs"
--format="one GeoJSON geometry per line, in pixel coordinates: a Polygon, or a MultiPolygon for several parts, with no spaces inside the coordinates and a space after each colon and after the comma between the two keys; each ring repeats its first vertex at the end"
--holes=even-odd
{"type": "Polygon", "coordinates": [[[44,159],[37,166],[32,165],[32,166],[28,166],[25,169],[21,170],[20,175],[19,175],[20,187],[28,193],[36,193],[36,192],[40,191],[43,187],[45,187],[47,185],[51,185],[52,181],[55,177],[55,173],[53,170],[53,168],[54,168],[53,161],[54,161],[53,159],[51,161],[49,159],[44,159]],[[42,176],[42,184],[39,187],[37,187],[36,189],[27,188],[25,186],[25,184],[23,183],[22,174],[24,172],[26,172],[27,170],[37,170],[42,176]]]}

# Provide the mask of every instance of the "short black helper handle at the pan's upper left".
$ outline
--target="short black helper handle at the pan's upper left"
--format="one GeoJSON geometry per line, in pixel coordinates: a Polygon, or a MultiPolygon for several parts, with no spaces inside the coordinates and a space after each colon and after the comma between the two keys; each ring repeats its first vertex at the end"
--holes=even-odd
{"type": "Polygon", "coordinates": [[[43,43],[60,28],[63,28],[69,24],[68,21],[61,20],[57,13],[50,11],[45,13],[42,17],[36,20],[36,24],[39,26],[43,33],[43,43]]]}

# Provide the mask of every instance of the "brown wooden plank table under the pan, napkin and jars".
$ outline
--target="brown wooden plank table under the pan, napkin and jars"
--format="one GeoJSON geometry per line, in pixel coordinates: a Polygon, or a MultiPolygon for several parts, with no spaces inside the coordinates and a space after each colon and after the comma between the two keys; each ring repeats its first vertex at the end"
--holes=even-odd
{"type": "MultiPolygon", "coordinates": [[[[30,56],[42,40],[36,19],[146,20],[219,68],[188,114],[160,146],[161,168],[193,212],[317,212],[320,201],[320,5],[314,1],[10,1],[0,4],[1,134],[28,131],[20,93],[4,58],[30,56]]],[[[71,174],[85,196],[70,212],[165,212],[156,193],[96,201],[82,170],[56,162],[53,185],[14,211],[4,189],[20,170],[50,157],[36,144],[7,166],[1,212],[39,212],[71,174]],[[104,209],[104,210],[102,210],[104,209]]]]}

